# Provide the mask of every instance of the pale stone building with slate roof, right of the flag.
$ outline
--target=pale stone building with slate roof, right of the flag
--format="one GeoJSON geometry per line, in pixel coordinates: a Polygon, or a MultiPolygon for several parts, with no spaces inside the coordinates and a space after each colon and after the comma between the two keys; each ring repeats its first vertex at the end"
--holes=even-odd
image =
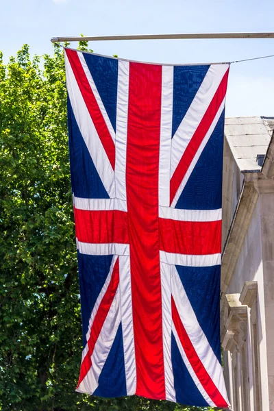
{"type": "Polygon", "coordinates": [[[274,411],[273,127],[225,121],[221,343],[233,411],[274,411]]]}

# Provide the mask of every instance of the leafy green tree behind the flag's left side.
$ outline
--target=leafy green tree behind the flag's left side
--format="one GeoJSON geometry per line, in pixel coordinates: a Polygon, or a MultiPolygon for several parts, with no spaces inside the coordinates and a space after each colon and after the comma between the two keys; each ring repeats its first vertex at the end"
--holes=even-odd
{"type": "MultiPolygon", "coordinates": [[[[87,43],[80,42],[80,49],[87,43]]],[[[0,409],[188,410],[75,393],[82,329],[62,48],[0,54],[0,409]]]]}

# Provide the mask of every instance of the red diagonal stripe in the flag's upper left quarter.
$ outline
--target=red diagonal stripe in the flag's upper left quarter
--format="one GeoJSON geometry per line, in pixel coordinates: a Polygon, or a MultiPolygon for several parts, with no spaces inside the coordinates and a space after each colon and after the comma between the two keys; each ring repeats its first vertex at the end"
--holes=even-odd
{"type": "Polygon", "coordinates": [[[115,166],[114,141],[112,140],[112,136],[110,135],[108,126],[105,124],[105,120],[103,119],[103,115],[95,99],[95,95],[93,94],[92,89],[90,88],[90,84],[88,83],[88,79],[86,78],[86,73],[84,72],[82,64],[79,60],[77,51],[65,49],[65,52],[69,58],[71,69],[73,71],[73,74],[75,75],[75,79],[79,86],[79,90],[82,93],[83,99],[86,103],[86,107],[88,108],[88,112],[90,113],[90,117],[95,125],[98,136],[103,145],[103,148],[105,149],[105,153],[108,155],[108,159],[110,160],[112,169],[114,169],[114,166],[115,166]]]}

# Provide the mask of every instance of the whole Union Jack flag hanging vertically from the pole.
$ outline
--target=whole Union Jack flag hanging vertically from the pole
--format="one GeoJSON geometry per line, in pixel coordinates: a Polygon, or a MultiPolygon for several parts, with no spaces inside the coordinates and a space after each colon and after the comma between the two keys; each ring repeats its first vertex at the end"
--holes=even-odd
{"type": "Polygon", "coordinates": [[[219,295],[229,64],[64,54],[84,345],[77,391],[226,408],[219,295]]]}

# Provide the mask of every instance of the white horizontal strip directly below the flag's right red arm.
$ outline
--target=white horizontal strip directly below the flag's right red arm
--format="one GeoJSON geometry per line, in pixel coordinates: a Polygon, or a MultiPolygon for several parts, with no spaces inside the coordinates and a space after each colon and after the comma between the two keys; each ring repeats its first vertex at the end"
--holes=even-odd
{"type": "Polygon", "coordinates": [[[160,261],[171,265],[182,265],[186,267],[206,267],[221,264],[221,253],[204,254],[194,256],[190,254],[166,253],[160,251],[160,261]]]}

